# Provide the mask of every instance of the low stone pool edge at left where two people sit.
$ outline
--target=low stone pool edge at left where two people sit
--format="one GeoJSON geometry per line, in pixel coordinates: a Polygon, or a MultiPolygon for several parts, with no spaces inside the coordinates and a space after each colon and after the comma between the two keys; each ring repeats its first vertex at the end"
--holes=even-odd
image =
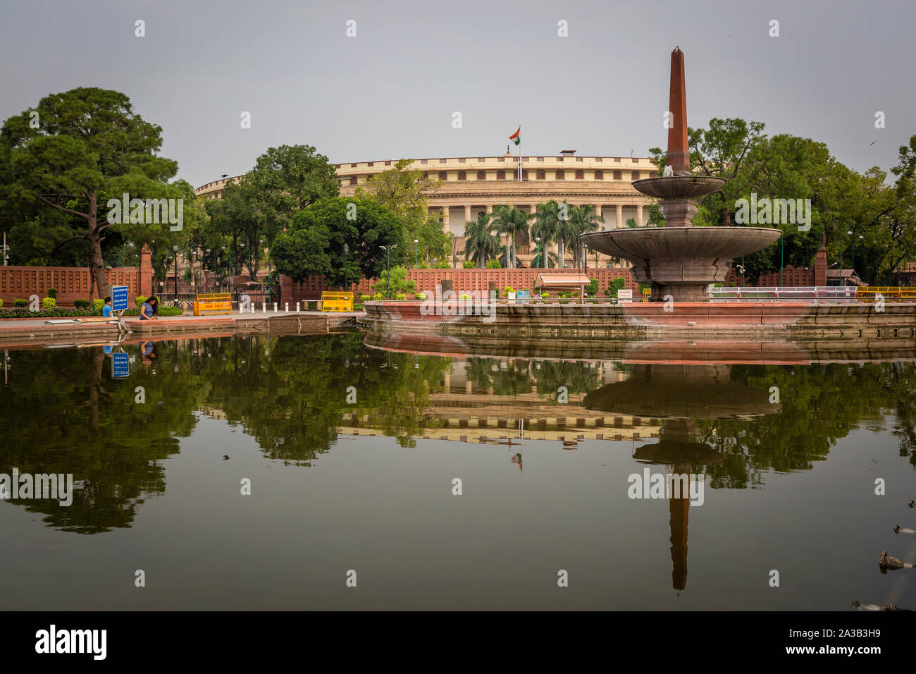
{"type": "Polygon", "coordinates": [[[115,341],[125,330],[131,337],[169,339],[179,337],[224,337],[229,335],[322,335],[354,326],[363,312],[267,313],[213,316],[163,317],[158,321],[127,318],[124,328],[114,323],[58,323],[47,318],[0,320],[0,347],[62,344],[74,341],[115,341]]]}

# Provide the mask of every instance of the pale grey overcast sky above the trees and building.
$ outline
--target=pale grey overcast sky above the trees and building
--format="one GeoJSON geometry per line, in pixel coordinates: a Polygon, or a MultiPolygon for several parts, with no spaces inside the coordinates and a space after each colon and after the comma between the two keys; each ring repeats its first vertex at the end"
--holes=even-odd
{"type": "Polygon", "coordinates": [[[646,156],[679,45],[691,126],[754,119],[889,169],[916,134],[914,27],[913,0],[4,0],[0,117],[124,92],[194,186],[284,143],[335,163],[499,155],[519,124],[525,154],[646,156]]]}

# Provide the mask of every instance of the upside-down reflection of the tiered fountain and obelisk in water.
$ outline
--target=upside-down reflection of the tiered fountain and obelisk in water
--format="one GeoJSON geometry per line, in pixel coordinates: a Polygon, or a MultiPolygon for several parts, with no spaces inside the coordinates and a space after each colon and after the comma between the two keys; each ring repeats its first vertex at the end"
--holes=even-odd
{"type": "MultiPolygon", "coordinates": [[[[670,465],[675,475],[692,480],[692,467],[720,463],[725,457],[706,443],[697,442],[696,419],[747,418],[780,411],[767,392],[729,380],[727,365],[637,365],[627,381],[617,381],[590,392],[587,409],[620,414],[651,415],[665,419],[659,442],[638,447],[633,458],[670,465]]],[[[687,587],[687,525],[690,494],[669,494],[671,530],[671,584],[687,587]]]]}

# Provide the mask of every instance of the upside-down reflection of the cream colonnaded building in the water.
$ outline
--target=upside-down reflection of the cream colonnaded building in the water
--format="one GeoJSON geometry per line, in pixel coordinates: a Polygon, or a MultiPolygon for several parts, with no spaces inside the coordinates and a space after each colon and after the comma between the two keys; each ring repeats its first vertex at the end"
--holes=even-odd
{"type": "MultiPolygon", "coordinates": [[[[506,370],[507,361],[484,360],[496,369],[506,370]]],[[[583,393],[569,393],[569,403],[557,403],[557,392],[539,393],[534,382],[516,387],[512,394],[500,394],[494,386],[481,388],[468,378],[468,361],[456,360],[453,371],[440,381],[444,392],[430,394],[429,407],[423,411],[419,438],[486,442],[518,440],[518,420],[525,420],[526,440],[555,440],[570,445],[579,440],[638,440],[659,436],[658,419],[633,414],[605,414],[583,407],[583,393]]],[[[536,368],[531,363],[532,369],[536,368]]],[[[611,363],[597,362],[597,385],[625,378],[611,363]]],[[[524,376],[527,370],[516,370],[524,376]]],[[[534,370],[535,372],[537,370],[534,370]]],[[[496,371],[491,372],[497,374],[496,371]]],[[[558,384],[559,385],[559,384],[558,384]]],[[[370,414],[343,414],[341,435],[382,436],[377,419],[370,414]]]]}

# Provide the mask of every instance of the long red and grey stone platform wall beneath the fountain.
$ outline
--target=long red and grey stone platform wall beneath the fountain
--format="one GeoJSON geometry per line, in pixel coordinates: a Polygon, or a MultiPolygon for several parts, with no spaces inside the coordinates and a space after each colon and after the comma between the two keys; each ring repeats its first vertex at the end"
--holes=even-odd
{"type": "Polygon", "coordinates": [[[909,340],[916,348],[916,304],[684,302],[675,304],[496,304],[488,314],[453,304],[439,315],[420,302],[365,304],[361,326],[378,335],[463,340],[743,338],[909,340]]]}

